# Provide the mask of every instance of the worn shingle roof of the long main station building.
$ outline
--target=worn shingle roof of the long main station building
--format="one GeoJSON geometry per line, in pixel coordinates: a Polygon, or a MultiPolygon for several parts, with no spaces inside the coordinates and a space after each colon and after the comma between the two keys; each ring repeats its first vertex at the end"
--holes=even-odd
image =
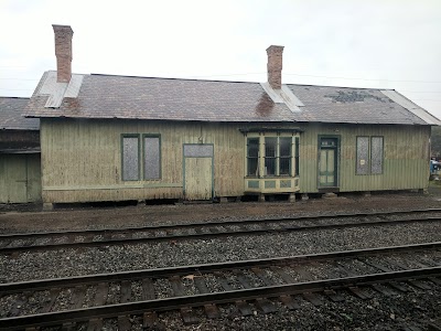
{"type": "Polygon", "coordinates": [[[379,89],[289,84],[304,105],[292,111],[287,104],[275,103],[259,83],[112,75],[84,75],[77,97],[65,97],[58,108],[49,108],[49,96],[41,90],[47,90],[45,82],[54,74],[43,75],[26,116],[428,125],[379,89]]]}

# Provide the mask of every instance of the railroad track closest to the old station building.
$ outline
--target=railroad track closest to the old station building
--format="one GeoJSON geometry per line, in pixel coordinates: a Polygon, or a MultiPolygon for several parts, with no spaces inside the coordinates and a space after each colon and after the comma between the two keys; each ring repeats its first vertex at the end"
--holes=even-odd
{"type": "Polygon", "coordinates": [[[439,222],[440,209],[301,216],[267,220],[198,222],[111,229],[84,229],[0,235],[0,254],[79,248],[147,242],[259,235],[271,232],[315,231],[368,225],[439,222]]]}

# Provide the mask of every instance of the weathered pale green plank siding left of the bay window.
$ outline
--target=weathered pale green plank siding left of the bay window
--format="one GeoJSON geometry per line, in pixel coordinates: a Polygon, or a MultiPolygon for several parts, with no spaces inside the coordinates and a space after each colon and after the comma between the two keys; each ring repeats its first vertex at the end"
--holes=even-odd
{"type": "Polygon", "coordinates": [[[214,145],[214,195],[244,191],[244,135],[232,124],[42,119],[44,202],[181,199],[183,145],[214,145]],[[121,180],[121,135],[161,136],[161,179],[121,180]]]}

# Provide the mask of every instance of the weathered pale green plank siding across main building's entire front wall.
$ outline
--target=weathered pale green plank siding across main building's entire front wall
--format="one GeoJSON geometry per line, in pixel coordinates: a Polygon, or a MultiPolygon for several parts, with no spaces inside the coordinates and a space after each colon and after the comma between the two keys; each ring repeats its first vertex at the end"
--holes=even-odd
{"type": "MultiPolygon", "coordinates": [[[[41,121],[43,202],[184,199],[184,143],[214,146],[214,196],[243,195],[246,138],[239,128],[245,126],[257,125],[44,118],[41,121]],[[159,180],[121,180],[121,135],[129,134],[138,134],[140,138],[143,134],[160,135],[159,180]]],[[[319,192],[319,136],[340,138],[340,192],[428,186],[429,126],[302,124],[300,128],[303,130],[300,193],[319,192]],[[384,137],[381,174],[356,174],[357,136],[384,137]]]]}

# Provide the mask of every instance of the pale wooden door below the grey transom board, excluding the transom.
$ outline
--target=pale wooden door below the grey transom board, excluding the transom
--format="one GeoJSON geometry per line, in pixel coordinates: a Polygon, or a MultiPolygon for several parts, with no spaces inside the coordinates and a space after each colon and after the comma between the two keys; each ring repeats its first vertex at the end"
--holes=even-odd
{"type": "Polygon", "coordinates": [[[212,200],[212,158],[185,158],[185,199],[212,200]]]}

